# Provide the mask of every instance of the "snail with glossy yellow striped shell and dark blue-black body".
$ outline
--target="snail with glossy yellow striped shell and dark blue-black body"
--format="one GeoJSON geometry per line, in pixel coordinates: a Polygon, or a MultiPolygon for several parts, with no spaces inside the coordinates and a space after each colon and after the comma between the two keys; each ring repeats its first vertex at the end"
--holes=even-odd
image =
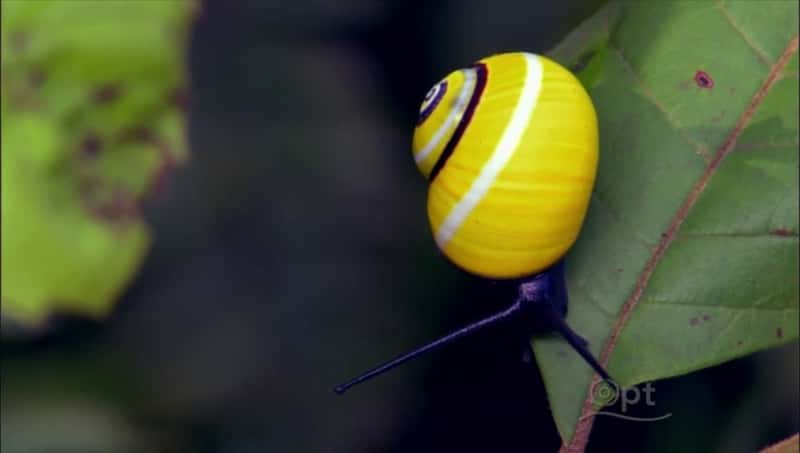
{"type": "Polygon", "coordinates": [[[428,91],[412,143],[426,177],[439,250],[462,270],[513,280],[506,309],[337,386],[336,393],[511,317],[560,333],[604,380],[606,370],[566,323],[564,255],[589,206],[597,117],[580,81],[531,53],[504,53],[456,70],[428,91]]]}

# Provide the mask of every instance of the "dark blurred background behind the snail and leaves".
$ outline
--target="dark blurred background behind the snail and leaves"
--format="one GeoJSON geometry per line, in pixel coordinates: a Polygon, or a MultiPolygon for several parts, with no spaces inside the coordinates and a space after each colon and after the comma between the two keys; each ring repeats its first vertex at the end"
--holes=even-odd
{"type": "MultiPolygon", "coordinates": [[[[3,450],[556,451],[512,331],[331,388],[509,302],[436,251],[410,151],[418,105],[478,58],[546,52],[601,3],[206,2],[192,158],[148,205],[154,247],[111,319],[4,338],[3,450]]],[[[800,424],[797,355],[657,382],[644,415],[673,416],[599,417],[589,451],[783,438],[800,424]]]]}

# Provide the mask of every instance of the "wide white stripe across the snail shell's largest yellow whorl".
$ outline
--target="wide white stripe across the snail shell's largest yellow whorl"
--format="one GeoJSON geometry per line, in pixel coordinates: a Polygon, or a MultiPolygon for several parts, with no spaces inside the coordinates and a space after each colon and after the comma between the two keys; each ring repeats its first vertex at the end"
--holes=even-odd
{"type": "MultiPolygon", "coordinates": [[[[511,115],[511,120],[506,125],[506,129],[503,131],[494,153],[481,168],[478,177],[472,181],[472,185],[453,206],[436,232],[436,243],[441,249],[444,249],[470,212],[475,209],[475,206],[483,199],[489,188],[492,187],[497,175],[500,174],[508,164],[511,156],[514,155],[514,151],[519,146],[519,142],[528,128],[531,115],[536,108],[536,101],[539,98],[539,90],[542,86],[542,64],[536,55],[524,54],[524,56],[526,63],[525,82],[517,105],[511,115]]],[[[491,73],[489,77],[492,77],[491,73]]]]}

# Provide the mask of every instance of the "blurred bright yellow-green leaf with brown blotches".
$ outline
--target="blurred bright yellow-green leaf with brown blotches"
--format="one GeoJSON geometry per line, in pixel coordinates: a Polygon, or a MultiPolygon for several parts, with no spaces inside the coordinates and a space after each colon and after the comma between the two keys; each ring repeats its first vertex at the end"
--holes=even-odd
{"type": "Polygon", "coordinates": [[[187,157],[188,1],[2,2],[2,313],[106,313],[187,157]]]}

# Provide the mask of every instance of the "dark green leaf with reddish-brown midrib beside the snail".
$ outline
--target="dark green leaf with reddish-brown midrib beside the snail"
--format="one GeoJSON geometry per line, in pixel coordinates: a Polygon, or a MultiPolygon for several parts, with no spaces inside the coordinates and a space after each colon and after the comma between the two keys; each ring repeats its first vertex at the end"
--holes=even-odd
{"type": "MultiPolygon", "coordinates": [[[[797,16],[794,1],[614,3],[551,54],[600,120],[568,322],[623,387],[798,336],[797,16]]],[[[556,337],[533,345],[582,450],[591,371],[556,337]]]]}

